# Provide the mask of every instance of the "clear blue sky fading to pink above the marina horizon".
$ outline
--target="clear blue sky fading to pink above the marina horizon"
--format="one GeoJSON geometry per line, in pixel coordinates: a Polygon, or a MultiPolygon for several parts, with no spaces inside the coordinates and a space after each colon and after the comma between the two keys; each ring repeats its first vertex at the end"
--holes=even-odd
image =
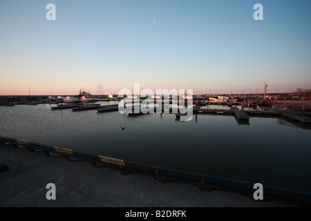
{"type": "Polygon", "coordinates": [[[310,10],[310,0],[0,0],[0,95],[311,88],[310,10]]]}

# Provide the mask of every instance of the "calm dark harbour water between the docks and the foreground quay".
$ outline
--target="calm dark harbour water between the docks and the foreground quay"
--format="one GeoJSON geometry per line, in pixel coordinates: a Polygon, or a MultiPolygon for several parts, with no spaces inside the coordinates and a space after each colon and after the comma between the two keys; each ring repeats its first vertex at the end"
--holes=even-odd
{"type": "Polygon", "coordinates": [[[251,117],[248,126],[232,116],[178,122],[172,114],[133,117],[50,106],[0,106],[0,135],[311,192],[311,130],[278,124],[281,119],[251,117]]]}

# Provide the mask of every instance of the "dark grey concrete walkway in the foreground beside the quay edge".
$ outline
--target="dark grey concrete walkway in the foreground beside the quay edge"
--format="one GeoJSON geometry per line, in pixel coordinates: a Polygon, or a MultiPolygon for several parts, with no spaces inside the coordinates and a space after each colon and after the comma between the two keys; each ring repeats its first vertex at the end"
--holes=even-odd
{"type": "Polygon", "coordinates": [[[257,202],[241,193],[203,190],[186,182],[160,182],[150,175],[123,175],[118,169],[89,162],[69,162],[43,152],[0,145],[0,206],[299,206],[257,202]],[[46,200],[46,184],[56,185],[56,200],[46,200]]]}

